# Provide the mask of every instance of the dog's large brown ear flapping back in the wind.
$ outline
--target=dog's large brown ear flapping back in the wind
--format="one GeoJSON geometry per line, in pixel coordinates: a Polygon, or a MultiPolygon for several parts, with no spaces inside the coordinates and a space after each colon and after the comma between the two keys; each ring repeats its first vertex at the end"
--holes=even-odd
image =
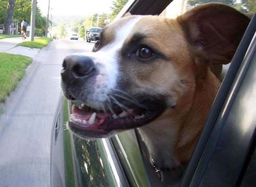
{"type": "Polygon", "coordinates": [[[224,4],[199,5],[178,17],[196,63],[227,64],[250,19],[224,4]]]}

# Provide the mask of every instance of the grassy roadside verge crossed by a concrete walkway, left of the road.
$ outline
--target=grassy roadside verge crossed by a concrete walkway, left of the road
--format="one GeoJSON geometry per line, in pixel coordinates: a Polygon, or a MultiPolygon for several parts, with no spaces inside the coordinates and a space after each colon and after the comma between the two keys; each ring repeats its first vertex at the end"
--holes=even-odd
{"type": "Polygon", "coordinates": [[[0,113],[4,111],[3,102],[25,76],[27,67],[51,40],[52,38],[47,37],[36,38],[33,42],[22,42],[0,52],[0,113]]]}

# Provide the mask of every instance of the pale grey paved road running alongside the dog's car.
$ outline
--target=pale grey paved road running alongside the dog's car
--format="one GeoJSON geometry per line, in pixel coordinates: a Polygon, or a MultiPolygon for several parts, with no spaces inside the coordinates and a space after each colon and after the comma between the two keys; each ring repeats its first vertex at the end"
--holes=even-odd
{"type": "Polygon", "coordinates": [[[65,56],[93,43],[59,39],[39,51],[0,115],[0,186],[49,187],[54,113],[65,56]]]}

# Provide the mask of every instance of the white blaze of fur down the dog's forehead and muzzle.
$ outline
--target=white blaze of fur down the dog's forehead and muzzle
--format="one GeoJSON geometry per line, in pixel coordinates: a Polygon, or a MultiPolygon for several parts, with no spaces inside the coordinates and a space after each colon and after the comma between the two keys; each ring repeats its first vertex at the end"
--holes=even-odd
{"type": "Polygon", "coordinates": [[[135,24],[142,17],[143,16],[132,17],[128,22],[119,27],[118,30],[116,30],[113,42],[102,47],[99,51],[78,53],[79,55],[91,57],[99,69],[94,93],[98,103],[106,101],[109,91],[116,87],[118,78],[118,52],[122,48],[125,40],[131,34],[135,24]]]}

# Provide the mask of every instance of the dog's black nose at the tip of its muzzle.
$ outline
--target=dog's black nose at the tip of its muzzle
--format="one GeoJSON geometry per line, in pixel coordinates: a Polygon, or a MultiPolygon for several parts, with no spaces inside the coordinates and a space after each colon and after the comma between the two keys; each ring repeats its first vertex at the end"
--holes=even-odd
{"type": "Polygon", "coordinates": [[[90,57],[69,55],[63,61],[61,77],[63,81],[84,79],[95,71],[95,65],[90,57]]]}

